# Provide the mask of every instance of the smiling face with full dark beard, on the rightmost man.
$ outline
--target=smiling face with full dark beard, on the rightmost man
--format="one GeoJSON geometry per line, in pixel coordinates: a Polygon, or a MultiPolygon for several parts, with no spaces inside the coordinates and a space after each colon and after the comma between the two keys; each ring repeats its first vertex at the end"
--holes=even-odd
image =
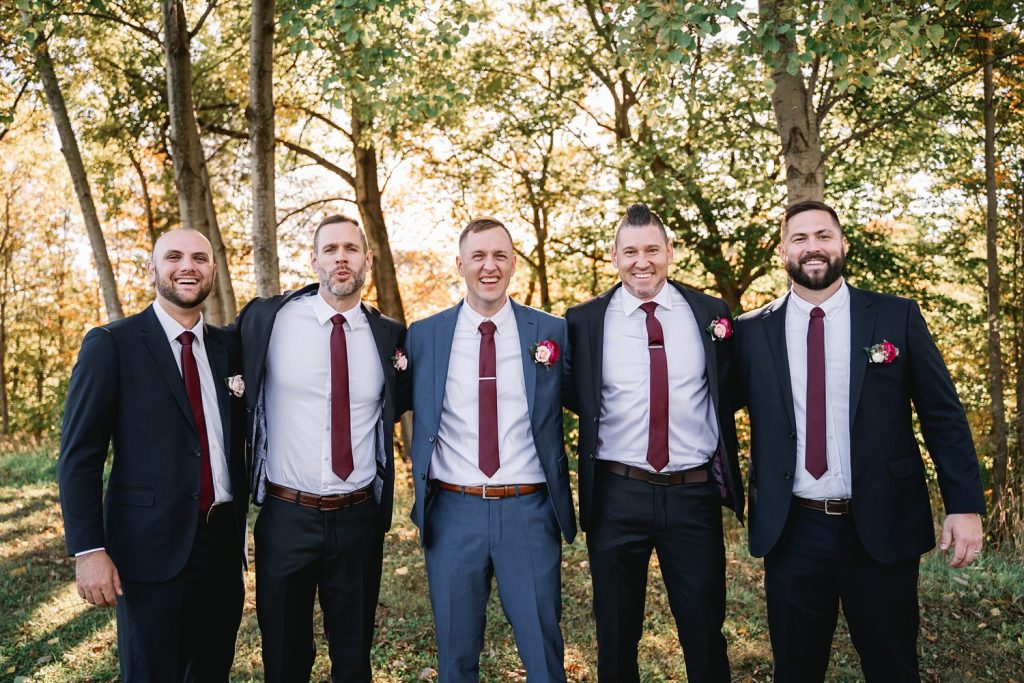
{"type": "Polygon", "coordinates": [[[797,293],[831,295],[846,266],[846,239],[825,211],[804,211],[786,221],[778,254],[797,293]]]}

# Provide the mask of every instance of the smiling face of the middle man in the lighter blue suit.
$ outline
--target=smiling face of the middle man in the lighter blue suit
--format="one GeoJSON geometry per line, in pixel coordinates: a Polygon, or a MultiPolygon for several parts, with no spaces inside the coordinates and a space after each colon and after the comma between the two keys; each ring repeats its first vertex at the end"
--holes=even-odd
{"type": "Polygon", "coordinates": [[[501,310],[515,272],[515,251],[505,228],[467,232],[455,262],[466,280],[466,303],[484,316],[501,310]]]}

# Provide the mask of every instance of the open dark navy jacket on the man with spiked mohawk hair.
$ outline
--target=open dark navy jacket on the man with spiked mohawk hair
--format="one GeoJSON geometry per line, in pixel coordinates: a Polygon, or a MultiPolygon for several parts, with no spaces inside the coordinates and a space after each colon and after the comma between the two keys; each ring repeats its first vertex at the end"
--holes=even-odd
{"type": "MultiPolygon", "coordinates": [[[[715,415],[718,416],[718,451],[712,458],[712,475],[719,486],[722,505],[731,508],[736,517],[743,519],[743,489],[740,485],[739,463],[736,460],[736,424],[732,410],[725,410],[722,400],[732,377],[732,339],[713,341],[705,332],[715,318],[731,321],[729,307],[721,299],[696,292],[679,283],[668,281],[689,305],[703,341],[707,361],[708,390],[711,393],[715,415]]],[[[594,514],[594,468],[600,431],[601,382],[604,362],[604,313],[612,294],[622,287],[617,284],[590,301],[572,306],[565,311],[568,322],[569,345],[572,347],[571,380],[567,381],[566,404],[580,416],[580,525],[588,528],[594,514]]]]}

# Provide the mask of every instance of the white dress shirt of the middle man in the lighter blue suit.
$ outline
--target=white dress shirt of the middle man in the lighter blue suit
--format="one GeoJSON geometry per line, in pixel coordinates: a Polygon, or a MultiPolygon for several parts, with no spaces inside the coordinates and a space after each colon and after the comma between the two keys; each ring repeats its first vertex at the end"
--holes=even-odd
{"type": "Polygon", "coordinates": [[[477,313],[465,301],[459,309],[455,338],[452,340],[452,354],[449,356],[437,443],[430,460],[430,478],[461,486],[545,481],[530,428],[519,329],[508,299],[490,318],[477,313]],[[485,319],[489,319],[496,327],[495,360],[498,378],[498,460],[501,467],[492,477],[481,472],[479,466],[478,328],[485,319]]]}

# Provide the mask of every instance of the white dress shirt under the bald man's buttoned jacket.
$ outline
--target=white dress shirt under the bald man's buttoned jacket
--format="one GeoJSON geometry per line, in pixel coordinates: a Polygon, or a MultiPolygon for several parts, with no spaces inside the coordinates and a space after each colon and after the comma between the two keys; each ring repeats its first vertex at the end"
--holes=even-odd
{"type": "MultiPolygon", "coordinates": [[[[167,341],[174,351],[174,361],[178,364],[178,372],[181,372],[181,342],[177,340],[178,335],[185,332],[185,328],[180,323],[171,317],[170,313],[164,310],[160,301],[153,302],[153,310],[157,313],[160,327],[167,335],[167,341]]],[[[224,455],[224,429],[220,424],[220,401],[217,400],[217,382],[223,382],[227,378],[213,376],[210,369],[210,358],[206,354],[206,340],[203,336],[203,314],[200,313],[199,323],[188,330],[196,335],[193,341],[193,355],[196,356],[196,366],[199,368],[199,384],[203,393],[203,416],[206,418],[206,437],[210,443],[210,470],[213,472],[213,501],[214,504],[226,503],[231,498],[231,476],[227,471],[227,458],[224,455]]]]}

